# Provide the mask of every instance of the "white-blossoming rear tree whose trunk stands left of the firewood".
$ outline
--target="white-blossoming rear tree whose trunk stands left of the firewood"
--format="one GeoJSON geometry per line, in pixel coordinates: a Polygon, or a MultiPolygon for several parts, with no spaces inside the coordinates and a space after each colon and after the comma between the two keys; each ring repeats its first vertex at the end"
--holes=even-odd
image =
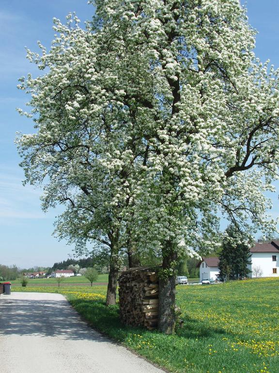
{"type": "Polygon", "coordinates": [[[20,79],[19,88],[32,95],[33,109],[19,112],[33,116],[38,129],[17,139],[21,166],[26,181],[44,185],[44,209],[66,205],[56,224],[59,237],[109,246],[107,304],[115,304],[121,254],[129,246],[124,207],[130,204],[129,179],[137,166],[133,154],[142,151],[139,141],[126,135],[129,113],[118,100],[123,92],[112,95],[112,71],[98,58],[95,35],[81,30],[75,16],[65,26],[54,22],[58,34],[51,51],[41,44],[42,56],[28,51],[28,58],[47,73],[20,79]]]}

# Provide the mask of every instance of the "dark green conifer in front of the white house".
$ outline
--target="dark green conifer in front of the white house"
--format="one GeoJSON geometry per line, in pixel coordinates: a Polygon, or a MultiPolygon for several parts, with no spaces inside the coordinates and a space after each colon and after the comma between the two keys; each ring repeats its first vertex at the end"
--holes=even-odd
{"type": "Polygon", "coordinates": [[[219,278],[227,280],[245,277],[250,272],[247,268],[250,261],[250,237],[237,226],[229,225],[225,231],[222,250],[219,256],[219,278]]]}

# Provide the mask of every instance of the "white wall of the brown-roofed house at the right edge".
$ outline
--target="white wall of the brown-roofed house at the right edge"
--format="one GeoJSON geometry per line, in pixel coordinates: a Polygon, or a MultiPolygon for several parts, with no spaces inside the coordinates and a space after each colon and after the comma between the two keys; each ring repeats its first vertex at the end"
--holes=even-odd
{"type": "MultiPolygon", "coordinates": [[[[262,277],[278,277],[279,276],[279,252],[278,253],[252,253],[252,264],[248,266],[250,271],[255,267],[259,267],[263,273],[262,277]],[[272,261],[272,255],[276,255],[276,262],[272,261]],[[273,273],[273,268],[277,268],[277,274],[273,273]]],[[[255,274],[249,273],[250,277],[256,277],[255,274]]],[[[258,275],[259,277],[259,275],[258,275]]]]}

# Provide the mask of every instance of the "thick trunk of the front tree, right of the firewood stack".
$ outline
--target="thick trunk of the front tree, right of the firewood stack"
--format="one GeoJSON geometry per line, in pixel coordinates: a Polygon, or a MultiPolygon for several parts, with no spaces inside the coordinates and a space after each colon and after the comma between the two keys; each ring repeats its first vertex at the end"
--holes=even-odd
{"type": "MultiPolygon", "coordinates": [[[[163,270],[170,270],[177,254],[170,248],[163,257],[163,270]]],[[[159,278],[159,316],[158,330],[165,334],[174,334],[175,328],[175,274],[159,278]]]]}

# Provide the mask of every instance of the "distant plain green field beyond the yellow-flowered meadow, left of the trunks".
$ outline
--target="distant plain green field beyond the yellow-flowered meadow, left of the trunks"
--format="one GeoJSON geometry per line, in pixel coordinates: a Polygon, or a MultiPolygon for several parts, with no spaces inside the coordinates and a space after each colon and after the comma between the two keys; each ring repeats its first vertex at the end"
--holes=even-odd
{"type": "MultiPolygon", "coordinates": [[[[105,283],[108,283],[108,280],[109,280],[109,275],[108,274],[99,274],[98,275],[98,278],[96,281],[93,282],[93,285],[94,283],[98,283],[98,282],[105,282],[105,283]]],[[[20,283],[20,279],[18,280],[14,280],[14,281],[11,281],[12,285],[15,285],[15,286],[21,286],[21,283],[20,283]]],[[[31,286],[48,286],[48,285],[55,285],[57,284],[57,281],[54,277],[50,277],[50,278],[32,278],[32,279],[29,279],[28,280],[28,287],[31,287],[31,286]]],[[[72,277],[65,277],[65,280],[60,284],[60,286],[68,286],[68,285],[75,285],[75,284],[88,284],[88,286],[91,286],[89,280],[87,280],[87,278],[85,278],[84,276],[72,276],[72,277]]]]}

